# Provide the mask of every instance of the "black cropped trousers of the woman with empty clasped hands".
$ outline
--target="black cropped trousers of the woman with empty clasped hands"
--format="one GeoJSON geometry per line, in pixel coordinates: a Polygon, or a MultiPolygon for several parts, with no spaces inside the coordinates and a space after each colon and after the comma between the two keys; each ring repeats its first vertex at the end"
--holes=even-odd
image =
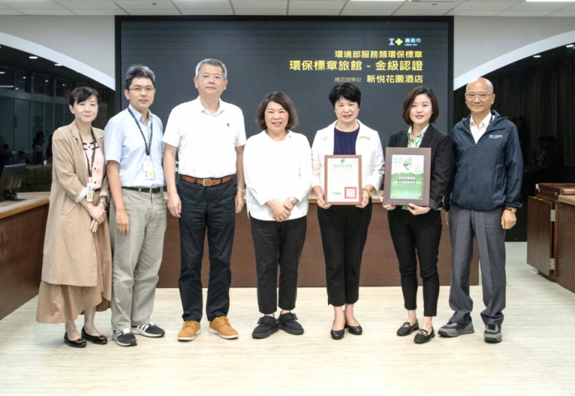
{"type": "Polygon", "coordinates": [[[280,265],[281,309],[295,308],[297,267],[300,265],[307,216],[278,223],[250,218],[255,272],[258,275],[258,306],[264,315],[278,310],[278,264],[280,265]]]}

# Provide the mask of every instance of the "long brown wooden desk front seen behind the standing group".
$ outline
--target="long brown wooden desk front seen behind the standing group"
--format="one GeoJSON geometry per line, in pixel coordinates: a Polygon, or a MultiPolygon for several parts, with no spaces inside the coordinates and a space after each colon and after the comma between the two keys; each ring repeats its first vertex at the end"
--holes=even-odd
{"type": "MultiPolygon", "coordinates": [[[[399,264],[389,235],[387,212],[381,207],[381,193],[373,198],[373,215],[362,260],[361,286],[400,286],[399,264]]],[[[325,287],[325,260],[317,222],[315,197],[310,196],[310,210],[307,214],[307,235],[300,261],[298,286],[325,287]]],[[[442,286],[450,284],[451,245],[449,228],[443,218],[443,232],[439,245],[439,282],[442,286]]],[[[479,284],[479,259],[477,246],[474,247],[471,264],[471,284],[479,284]]],[[[233,238],[231,257],[232,287],[255,287],[255,255],[250,232],[250,220],[244,205],[236,215],[236,232],[233,238]]],[[[164,258],[159,269],[158,287],[178,287],[180,273],[180,241],[178,219],[168,213],[168,225],[164,237],[164,258]]],[[[204,287],[208,285],[209,258],[207,238],[204,245],[201,279],[204,287]]],[[[421,279],[420,279],[421,285],[421,279]]]]}

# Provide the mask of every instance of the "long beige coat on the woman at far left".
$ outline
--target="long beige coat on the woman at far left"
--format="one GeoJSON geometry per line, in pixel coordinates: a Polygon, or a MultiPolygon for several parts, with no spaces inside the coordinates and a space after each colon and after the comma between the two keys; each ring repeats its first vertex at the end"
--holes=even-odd
{"type": "MultiPolygon", "coordinates": [[[[92,130],[103,154],[104,133],[102,129],[92,130]]],[[[85,154],[75,121],[54,132],[52,152],[52,188],[42,280],[50,284],[95,287],[97,258],[94,235],[90,231],[92,218],[80,203],[75,202],[88,184],[85,154]]],[[[109,191],[105,167],[100,193],[102,191],[109,191]]],[[[107,221],[98,227],[107,228],[107,221]]]]}

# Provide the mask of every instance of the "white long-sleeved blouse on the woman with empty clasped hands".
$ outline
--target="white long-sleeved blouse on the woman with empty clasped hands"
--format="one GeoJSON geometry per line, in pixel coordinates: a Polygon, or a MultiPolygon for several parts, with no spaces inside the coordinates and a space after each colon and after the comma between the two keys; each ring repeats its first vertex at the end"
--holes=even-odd
{"type": "Polygon", "coordinates": [[[243,151],[248,213],[258,220],[273,220],[265,205],[270,199],[283,202],[297,198],[288,220],[307,215],[307,194],[312,186],[310,143],[302,134],[288,131],[283,141],[274,141],[261,132],[250,137],[243,151]]]}

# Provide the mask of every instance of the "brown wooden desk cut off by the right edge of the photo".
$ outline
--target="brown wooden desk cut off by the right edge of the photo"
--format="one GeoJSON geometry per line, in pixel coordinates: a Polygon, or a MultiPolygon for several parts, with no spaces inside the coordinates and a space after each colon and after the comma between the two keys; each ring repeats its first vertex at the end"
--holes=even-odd
{"type": "Polygon", "coordinates": [[[559,196],[556,280],[575,293],[575,196],[559,196]]]}

